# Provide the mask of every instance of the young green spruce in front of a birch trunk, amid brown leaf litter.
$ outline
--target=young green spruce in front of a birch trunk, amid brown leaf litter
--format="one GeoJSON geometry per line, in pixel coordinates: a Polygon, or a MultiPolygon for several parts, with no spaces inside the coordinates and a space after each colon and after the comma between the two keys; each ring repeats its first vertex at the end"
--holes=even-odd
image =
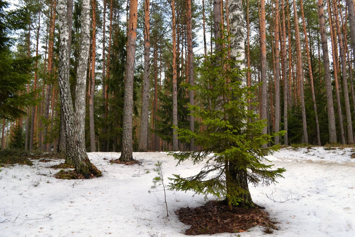
{"type": "MultiPolygon", "coordinates": [[[[222,45],[223,42],[219,43],[222,45]]],[[[205,162],[205,166],[200,173],[191,177],[183,178],[174,174],[175,178],[170,179],[170,189],[193,190],[197,194],[225,198],[229,210],[233,206],[253,208],[248,184],[241,184],[239,181],[242,179],[237,176],[247,176],[249,183],[254,185],[260,182],[268,185],[276,182],[277,177],[283,177],[284,168],[271,170],[272,165],[262,162],[268,161],[266,155],[279,149],[278,145],[263,145],[283,132],[262,134],[265,121],[260,120],[253,111],[247,110],[248,98],[252,97],[255,88],[242,87],[239,78],[245,71],[234,68],[235,61],[228,59],[227,50],[222,49],[217,55],[208,57],[201,66],[205,85],[185,85],[189,90],[194,90],[195,95],[210,98],[212,106],[206,104],[201,108],[189,105],[193,117],[202,120],[204,130],[192,132],[176,128],[180,140],[189,142],[194,139],[194,145],[202,147],[202,150],[171,155],[178,160],[178,165],[190,159],[194,164],[205,162]],[[222,62],[217,63],[217,60],[222,62]],[[207,81],[209,86],[206,86],[207,81]]]]}

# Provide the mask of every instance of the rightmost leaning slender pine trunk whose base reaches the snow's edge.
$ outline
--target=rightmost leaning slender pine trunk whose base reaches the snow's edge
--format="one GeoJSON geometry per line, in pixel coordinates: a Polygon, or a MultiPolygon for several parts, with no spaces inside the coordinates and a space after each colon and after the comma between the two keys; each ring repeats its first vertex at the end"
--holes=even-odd
{"type": "Polygon", "coordinates": [[[340,33],[340,24],[339,24],[339,15],[338,15],[338,5],[337,2],[334,2],[334,15],[335,15],[335,25],[337,28],[338,41],[339,41],[339,52],[340,52],[340,62],[342,64],[342,81],[343,81],[343,93],[344,93],[344,102],[345,102],[345,115],[346,123],[348,125],[348,143],[354,143],[353,136],[353,126],[351,121],[351,112],[350,112],[350,102],[349,102],[349,90],[348,90],[348,79],[346,77],[346,59],[345,59],[345,50],[342,35],[340,33]]]}

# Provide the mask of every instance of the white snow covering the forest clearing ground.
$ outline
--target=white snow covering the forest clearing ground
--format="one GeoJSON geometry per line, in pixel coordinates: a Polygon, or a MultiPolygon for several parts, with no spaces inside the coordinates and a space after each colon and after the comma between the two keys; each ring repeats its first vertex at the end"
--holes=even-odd
{"type": "MultiPolygon", "coordinates": [[[[355,236],[355,158],[351,148],[282,149],[268,156],[275,167],[285,167],[285,178],[271,186],[250,187],[253,201],[266,208],[280,228],[265,235],[261,227],[222,237],[326,237],[355,236]],[[289,199],[289,200],[288,200],[289,199]]],[[[164,181],[172,174],[186,177],[201,165],[175,166],[164,152],[133,153],[142,165],[110,164],[120,153],[89,153],[103,177],[58,180],[46,168],[59,161],[34,161],[34,166],[1,167],[0,236],[185,236],[185,226],[174,211],[201,205],[203,197],[192,192],[167,192],[169,217],[162,192],[149,194],[154,163],[163,163],[164,181]],[[105,160],[105,159],[107,160],[105,160]]],[[[207,236],[207,235],[206,235],[207,236]]]]}

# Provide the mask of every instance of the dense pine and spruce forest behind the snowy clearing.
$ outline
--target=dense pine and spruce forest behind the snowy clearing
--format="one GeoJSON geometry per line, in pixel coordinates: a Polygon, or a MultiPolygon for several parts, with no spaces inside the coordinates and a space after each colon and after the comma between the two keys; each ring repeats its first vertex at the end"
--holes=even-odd
{"type": "MultiPolygon", "coordinates": [[[[242,1],[249,68],[246,84],[255,88],[252,102],[259,102],[250,109],[267,119],[268,133],[287,131],[285,136],[275,136],[274,144],[353,144],[353,0],[267,0],[264,7],[261,2],[242,1]]],[[[130,2],[91,0],[90,4],[85,146],[91,152],[117,152],[121,151],[124,126],[130,2]]],[[[21,0],[17,6],[0,0],[2,148],[61,151],[65,147],[58,85],[57,6],[56,0],[21,0]]],[[[80,0],[73,1],[70,21],[73,101],[80,65],[81,6],[80,0]]],[[[198,69],[216,47],[216,14],[222,22],[217,26],[229,31],[227,0],[138,2],[133,151],[176,150],[171,128],[174,80],[179,128],[206,129],[191,119],[187,103],[208,107],[208,98],[192,94],[191,99],[190,91],[182,85],[191,79],[197,85],[207,83],[198,69]],[[216,2],[220,12],[215,10],[216,2]],[[148,121],[146,131],[141,129],[143,120],[148,121]]],[[[228,45],[223,47],[228,49],[228,45]]],[[[178,150],[193,149],[193,144],[180,140],[177,145],[178,150]]]]}

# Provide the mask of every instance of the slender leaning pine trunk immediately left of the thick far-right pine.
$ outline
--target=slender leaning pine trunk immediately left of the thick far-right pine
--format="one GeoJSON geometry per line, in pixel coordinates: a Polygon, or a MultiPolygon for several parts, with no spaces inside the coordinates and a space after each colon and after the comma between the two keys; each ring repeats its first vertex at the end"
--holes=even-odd
{"type": "Polygon", "coordinates": [[[314,110],[314,116],[315,116],[315,122],[316,122],[317,144],[318,144],[318,146],[320,146],[321,145],[321,138],[320,138],[320,131],[319,131],[319,123],[318,123],[316,96],[315,96],[315,92],[314,92],[312,64],[311,64],[310,52],[309,52],[309,49],[308,49],[308,37],[307,37],[307,31],[306,31],[305,14],[304,14],[304,11],[303,11],[302,0],[300,0],[300,5],[301,5],[301,16],[302,16],[302,23],[303,23],[303,33],[304,33],[304,36],[305,36],[305,44],[306,44],[306,54],[307,54],[307,60],[308,60],[308,72],[309,72],[310,81],[311,81],[311,93],[312,93],[313,110],[314,110]]]}

